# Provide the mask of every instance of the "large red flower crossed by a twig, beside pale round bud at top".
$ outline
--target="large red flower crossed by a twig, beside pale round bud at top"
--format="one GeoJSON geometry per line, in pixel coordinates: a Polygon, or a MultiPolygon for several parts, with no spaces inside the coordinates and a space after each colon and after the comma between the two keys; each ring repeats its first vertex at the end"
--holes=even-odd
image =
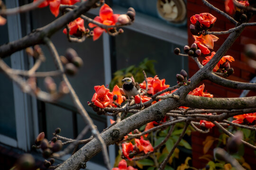
{"type": "MultiPolygon", "coordinates": [[[[94,20],[107,26],[114,26],[118,21],[118,17],[119,14],[113,14],[112,8],[110,8],[107,4],[104,4],[100,9],[100,16],[95,17],[94,20]]],[[[99,39],[103,31],[106,32],[105,29],[92,23],[89,23],[89,27],[95,27],[93,29],[93,41],[99,39]]]]}

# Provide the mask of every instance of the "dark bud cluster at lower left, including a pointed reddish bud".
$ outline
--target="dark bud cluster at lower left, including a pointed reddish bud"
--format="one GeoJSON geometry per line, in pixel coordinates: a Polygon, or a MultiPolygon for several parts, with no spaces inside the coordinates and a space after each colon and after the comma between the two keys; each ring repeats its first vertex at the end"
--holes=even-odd
{"type": "MultiPolygon", "coordinates": [[[[60,133],[61,129],[56,128],[55,134],[60,133]]],[[[57,137],[53,137],[51,141],[45,138],[45,133],[41,132],[35,141],[35,145],[32,148],[41,149],[44,158],[49,158],[53,153],[59,152],[62,149],[62,141],[58,140],[57,137]]],[[[45,164],[48,166],[52,165],[54,161],[46,161],[45,164]]]]}

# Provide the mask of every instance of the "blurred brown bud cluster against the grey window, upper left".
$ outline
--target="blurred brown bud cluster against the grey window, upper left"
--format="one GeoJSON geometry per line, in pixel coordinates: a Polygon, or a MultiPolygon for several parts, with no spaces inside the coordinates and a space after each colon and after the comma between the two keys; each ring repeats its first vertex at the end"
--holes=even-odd
{"type": "Polygon", "coordinates": [[[61,62],[65,65],[65,73],[68,75],[75,75],[78,68],[82,67],[83,61],[78,57],[76,51],[72,48],[66,50],[65,56],[60,56],[61,62]]]}

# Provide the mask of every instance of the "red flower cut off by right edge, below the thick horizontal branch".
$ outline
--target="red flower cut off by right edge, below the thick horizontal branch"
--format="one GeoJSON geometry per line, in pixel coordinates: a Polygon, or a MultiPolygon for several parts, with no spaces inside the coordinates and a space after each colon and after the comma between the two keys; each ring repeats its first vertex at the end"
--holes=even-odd
{"type": "Polygon", "coordinates": [[[256,124],[256,112],[234,116],[236,120],[233,123],[255,125],[256,124]]]}

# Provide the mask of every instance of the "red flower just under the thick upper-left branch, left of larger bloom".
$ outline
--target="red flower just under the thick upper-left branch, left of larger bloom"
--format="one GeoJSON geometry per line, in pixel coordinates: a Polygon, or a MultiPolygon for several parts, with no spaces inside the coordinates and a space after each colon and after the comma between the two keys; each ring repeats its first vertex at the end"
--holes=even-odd
{"type": "MultiPolygon", "coordinates": [[[[78,17],[75,20],[73,20],[72,22],[70,22],[68,24],[69,34],[73,35],[73,34],[77,34],[78,32],[80,32],[80,33],[85,32],[85,27],[84,27],[83,23],[84,23],[84,20],[81,17],[78,17]]],[[[66,28],[63,30],[63,33],[67,34],[66,28]]]]}

